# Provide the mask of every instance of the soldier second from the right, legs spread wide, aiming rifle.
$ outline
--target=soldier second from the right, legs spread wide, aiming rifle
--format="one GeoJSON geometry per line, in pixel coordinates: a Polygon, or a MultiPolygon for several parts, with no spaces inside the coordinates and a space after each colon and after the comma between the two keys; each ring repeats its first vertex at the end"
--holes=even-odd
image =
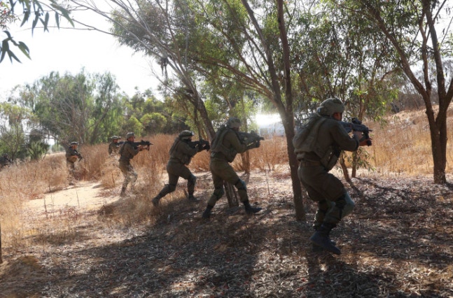
{"type": "Polygon", "coordinates": [[[214,141],[211,143],[211,162],[209,168],[212,173],[212,180],[214,183],[214,193],[209,198],[206,210],[202,217],[210,218],[211,210],[214,205],[220,199],[225,191],[223,190],[223,181],[227,181],[237,188],[239,199],[244,204],[244,208],[247,214],[258,213],[261,208],[252,207],[249,203],[249,196],[247,194],[246,184],[243,180],[237,176],[237,173],[230,165],[237,153],[245,152],[252,148],[258,148],[260,146],[259,141],[250,143],[248,146],[239,141],[239,127],[241,126],[241,120],[238,118],[228,119],[226,125],[218,129],[214,141]]]}

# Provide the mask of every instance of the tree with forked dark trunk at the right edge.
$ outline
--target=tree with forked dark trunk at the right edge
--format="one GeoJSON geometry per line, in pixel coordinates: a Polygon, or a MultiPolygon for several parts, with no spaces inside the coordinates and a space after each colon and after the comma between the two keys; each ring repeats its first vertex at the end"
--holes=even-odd
{"type": "Polygon", "coordinates": [[[446,183],[447,109],[453,97],[453,76],[445,73],[444,64],[452,57],[451,1],[331,2],[354,15],[367,17],[375,30],[382,32],[391,43],[400,69],[424,101],[431,135],[434,183],[446,183]],[[430,76],[430,64],[435,66],[435,76],[430,76]],[[423,73],[421,78],[417,77],[417,69],[423,73]],[[433,106],[433,97],[438,97],[438,109],[433,106]]]}

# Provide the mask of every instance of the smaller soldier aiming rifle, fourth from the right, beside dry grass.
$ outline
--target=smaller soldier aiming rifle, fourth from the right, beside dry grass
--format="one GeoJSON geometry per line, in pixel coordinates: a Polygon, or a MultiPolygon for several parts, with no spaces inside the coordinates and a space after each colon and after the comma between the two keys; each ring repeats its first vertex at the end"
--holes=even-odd
{"type": "Polygon", "coordinates": [[[121,187],[120,196],[124,197],[126,194],[127,185],[131,183],[131,187],[133,187],[135,181],[137,181],[137,172],[134,170],[132,164],[130,164],[130,159],[134,158],[141,150],[144,150],[144,146],[134,146],[134,139],[135,134],[133,132],[128,132],[126,134],[126,141],[121,146],[119,154],[120,154],[120,170],[123,172],[124,175],[124,182],[123,187],[121,187]]]}

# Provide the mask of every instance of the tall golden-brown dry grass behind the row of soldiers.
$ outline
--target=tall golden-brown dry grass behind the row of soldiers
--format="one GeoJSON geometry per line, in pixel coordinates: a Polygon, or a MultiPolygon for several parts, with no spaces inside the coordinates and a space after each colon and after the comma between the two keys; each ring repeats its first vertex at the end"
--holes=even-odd
{"type": "MultiPolygon", "coordinates": [[[[431,142],[426,116],[421,112],[400,113],[389,118],[389,125],[379,127],[367,122],[372,129],[373,146],[365,148],[370,153],[370,164],[375,173],[382,176],[417,176],[432,174],[431,142]]],[[[448,126],[453,120],[448,120],[448,126]]],[[[453,132],[449,132],[451,140],[453,132]]],[[[169,148],[176,136],[156,135],[148,139],[153,143],[149,151],[140,152],[132,159],[139,179],[130,196],[106,204],[99,211],[99,220],[109,227],[130,227],[153,222],[155,209],[151,199],[167,183],[165,166],[169,158],[169,148]]],[[[76,177],[83,181],[98,182],[105,197],[118,196],[123,175],[118,169],[118,157],[109,157],[108,144],[81,146],[79,151],[84,159],[76,167],[76,177]]],[[[447,148],[447,172],[452,170],[452,143],[447,148]]],[[[286,139],[274,137],[261,142],[260,148],[249,151],[251,171],[259,174],[272,172],[274,177],[289,177],[286,139]]],[[[237,171],[242,171],[242,157],[238,155],[232,163],[237,171]]],[[[195,155],[190,169],[206,172],[209,177],[209,152],[195,155]]],[[[39,162],[25,162],[0,171],[0,225],[4,250],[15,251],[37,243],[67,243],[81,237],[78,226],[84,217],[78,207],[65,207],[53,216],[31,221],[25,213],[25,202],[42,198],[45,194],[69,187],[69,176],[64,153],[48,155],[39,162]],[[55,215],[56,214],[56,215],[55,215]]],[[[185,197],[186,181],[179,180],[179,187],[162,200],[162,208],[175,208],[185,197]]],[[[197,193],[211,192],[209,179],[197,180],[197,193]]],[[[196,194],[197,194],[196,193],[196,194]]],[[[51,201],[46,204],[52,205],[51,201]]],[[[49,212],[49,214],[51,214],[49,212]]],[[[88,223],[85,223],[88,225],[88,223]]]]}

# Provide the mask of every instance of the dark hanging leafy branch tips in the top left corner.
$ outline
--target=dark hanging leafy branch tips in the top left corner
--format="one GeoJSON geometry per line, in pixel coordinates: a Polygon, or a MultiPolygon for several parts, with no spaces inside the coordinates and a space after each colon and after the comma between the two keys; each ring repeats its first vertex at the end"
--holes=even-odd
{"type": "MultiPolygon", "coordinates": [[[[60,18],[64,17],[68,20],[74,27],[74,23],[69,16],[69,10],[57,3],[56,0],[48,0],[46,3],[44,1],[38,0],[10,0],[9,3],[11,6],[8,6],[4,1],[0,1],[0,28],[8,29],[8,24],[15,22],[16,20],[21,20],[20,27],[32,20],[32,33],[34,29],[41,25],[44,31],[48,31],[49,20],[50,20],[50,11],[55,13],[55,23],[57,27],[60,27],[60,18]],[[22,6],[22,10],[19,12],[22,15],[17,15],[18,7],[22,6]],[[30,19],[32,17],[32,19],[30,19]]],[[[0,45],[0,63],[4,60],[6,55],[8,55],[11,62],[15,59],[17,62],[20,62],[20,59],[14,54],[11,50],[11,44],[17,47],[23,55],[27,58],[30,58],[29,48],[22,41],[15,41],[13,36],[8,30],[4,31],[6,38],[1,42],[0,45]]]]}

